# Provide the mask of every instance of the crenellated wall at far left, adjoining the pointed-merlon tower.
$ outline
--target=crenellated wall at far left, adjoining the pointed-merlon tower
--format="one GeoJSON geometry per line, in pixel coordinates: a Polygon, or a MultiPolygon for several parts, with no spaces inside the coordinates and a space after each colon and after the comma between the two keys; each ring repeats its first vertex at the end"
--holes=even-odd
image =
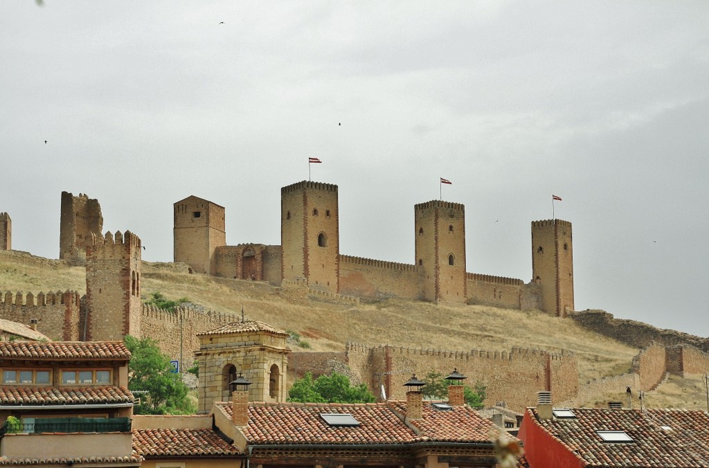
{"type": "Polygon", "coordinates": [[[29,325],[37,321],[37,331],[55,341],[82,340],[81,298],[76,291],[57,291],[0,296],[2,318],[29,325]]]}

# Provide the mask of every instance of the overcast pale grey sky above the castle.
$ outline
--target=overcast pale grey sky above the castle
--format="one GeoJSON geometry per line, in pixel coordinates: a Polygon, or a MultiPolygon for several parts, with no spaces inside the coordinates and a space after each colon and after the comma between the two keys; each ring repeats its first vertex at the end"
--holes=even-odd
{"type": "Polygon", "coordinates": [[[50,258],[62,190],[145,260],[189,195],[229,245],[279,244],[314,156],[343,254],[413,263],[445,177],[468,271],[528,282],[556,194],[577,310],[707,336],[708,25],[705,0],[3,0],[0,211],[50,258]]]}

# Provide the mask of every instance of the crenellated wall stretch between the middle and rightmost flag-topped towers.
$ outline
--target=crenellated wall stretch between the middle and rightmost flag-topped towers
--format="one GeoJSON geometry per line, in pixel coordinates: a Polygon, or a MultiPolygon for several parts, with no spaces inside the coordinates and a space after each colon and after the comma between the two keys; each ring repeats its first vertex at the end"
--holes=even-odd
{"type": "Polygon", "coordinates": [[[521,279],[468,273],[467,282],[469,304],[522,308],[522,291],[525,284],[521,279]]]}

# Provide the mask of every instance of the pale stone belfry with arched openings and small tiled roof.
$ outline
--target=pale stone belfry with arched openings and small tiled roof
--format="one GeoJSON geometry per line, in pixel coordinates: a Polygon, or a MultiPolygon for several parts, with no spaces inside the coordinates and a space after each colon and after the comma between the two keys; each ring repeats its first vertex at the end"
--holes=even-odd
{"type": "Polygon", "coordinates": [[[215,401],[230,401],[230,382],[250,380],[249,401],[286,401],[289,334],[259,321],[227,323],[198,333],[199,413],[215,401]]]}

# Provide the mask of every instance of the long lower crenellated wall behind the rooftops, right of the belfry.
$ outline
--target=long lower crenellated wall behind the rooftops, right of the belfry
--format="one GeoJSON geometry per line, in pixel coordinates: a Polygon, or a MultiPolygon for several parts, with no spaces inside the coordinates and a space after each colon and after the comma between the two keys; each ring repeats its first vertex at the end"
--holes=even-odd
{"type": "Polygon", "coordinates": [[[447,375],[454,368],[487,387],[486,403],[506,401],[509,408],[521,411],[533,406],[538,391],[551,384],[554,399],[569,399],[578,393],[578,367],[571,353],[552,355],[542,350],[513,348],[511,352],[471,350],[415,350],[406,347],[368,348],[348,345],[347,362],[354,373],[368,382],[374,394],[384,385],[389,399],[404,399],[403,384],[415,373],[425,379],[429,372],[447,375]],[[547,382],[548,381],[548,382],[547,382]]]}

